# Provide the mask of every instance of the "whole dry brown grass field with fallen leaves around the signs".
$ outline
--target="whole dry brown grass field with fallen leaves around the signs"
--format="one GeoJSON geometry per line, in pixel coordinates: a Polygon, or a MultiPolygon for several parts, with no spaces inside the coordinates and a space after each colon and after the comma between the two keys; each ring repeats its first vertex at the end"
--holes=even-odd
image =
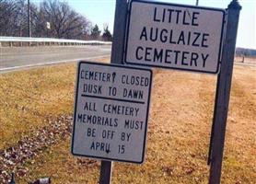
{"type": "MultiPolygon", "coordinates": [[[[108,62],[109,58],[99,62],[108,62]]],[[[76,63],[0,75],[0,183],[97,183],[100,162],[70,154],[76,63]]],[[[145,163],[112,182],[207,183],[216,75],[154,70],[145,163]]],[[[256,183],[256,67],[235,65],[222,183],[256,183]]]]}

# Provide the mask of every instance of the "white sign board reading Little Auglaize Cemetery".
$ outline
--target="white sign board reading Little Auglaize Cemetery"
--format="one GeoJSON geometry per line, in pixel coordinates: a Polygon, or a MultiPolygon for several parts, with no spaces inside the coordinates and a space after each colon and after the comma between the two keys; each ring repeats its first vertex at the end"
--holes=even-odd
{"type": "Polygon", "coordinates": [[[132,0],[125,63],[218,73],[226,11],[132,0]]]}

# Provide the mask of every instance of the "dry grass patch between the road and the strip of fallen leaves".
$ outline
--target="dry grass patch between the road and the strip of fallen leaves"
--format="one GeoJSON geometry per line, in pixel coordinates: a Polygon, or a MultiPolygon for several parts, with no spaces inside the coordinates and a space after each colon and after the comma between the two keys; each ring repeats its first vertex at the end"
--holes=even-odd
{"type": "Polygon", "coordinates": [[[0,149],[72,112],[75,64],[0,75],[0,149]]]}

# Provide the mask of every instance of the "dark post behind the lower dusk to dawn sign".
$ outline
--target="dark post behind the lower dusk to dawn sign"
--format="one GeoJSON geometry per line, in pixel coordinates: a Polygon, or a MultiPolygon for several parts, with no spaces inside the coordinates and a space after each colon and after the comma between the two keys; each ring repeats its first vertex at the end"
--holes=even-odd
{"type": "MultiPolygon", "coordinates": [[[[116,0],[111,63],[123,63],[124,37],[126,30],[127,0],[116,0]]],[[[101,161],[99,184],[111,183],[111,161],[101,161]]]]}

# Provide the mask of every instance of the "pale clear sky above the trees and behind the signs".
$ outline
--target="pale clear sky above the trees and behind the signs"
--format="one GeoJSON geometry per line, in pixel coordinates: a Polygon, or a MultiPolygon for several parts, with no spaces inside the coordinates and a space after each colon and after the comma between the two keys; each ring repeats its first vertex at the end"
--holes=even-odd
{"type": "MultiPolygon", "coordinates": [[[[39,2],[40,0],[34,0],[39,2]]],[[[112,32],[116,0],[60,0],[86,16],[93,25],[103,29],[109,25],[112,32]]],[[[175,4],[195,5],[196,0],[155,0],[175,4]]],[[[199,0],[199,6],[227,8],[231,0],[199,0]]],[[[239,18],[237,47],[256,49],[256,0],[239,0],[242,6],[239,18]]]]}

